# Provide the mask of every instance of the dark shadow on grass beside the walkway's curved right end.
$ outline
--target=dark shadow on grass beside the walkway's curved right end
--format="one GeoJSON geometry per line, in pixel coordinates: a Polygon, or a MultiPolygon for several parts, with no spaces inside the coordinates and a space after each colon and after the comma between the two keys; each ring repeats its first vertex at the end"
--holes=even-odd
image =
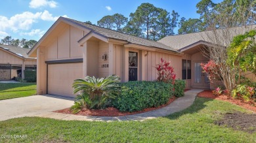
{"type": "Polygon", "coordinates": [[[196,97],[194,103],[186,108],[185,110],[182,110],[180,112],[175,112],[174,114],[170,114],[169,116],[165,116],[164,118],[168,119],[177,119],[185,114],[194,114],[203,108],[206,107],[205,103],[213,101],[213,99],[206,99],[206,98],[201,98],[201,97],[196,97]]]}

